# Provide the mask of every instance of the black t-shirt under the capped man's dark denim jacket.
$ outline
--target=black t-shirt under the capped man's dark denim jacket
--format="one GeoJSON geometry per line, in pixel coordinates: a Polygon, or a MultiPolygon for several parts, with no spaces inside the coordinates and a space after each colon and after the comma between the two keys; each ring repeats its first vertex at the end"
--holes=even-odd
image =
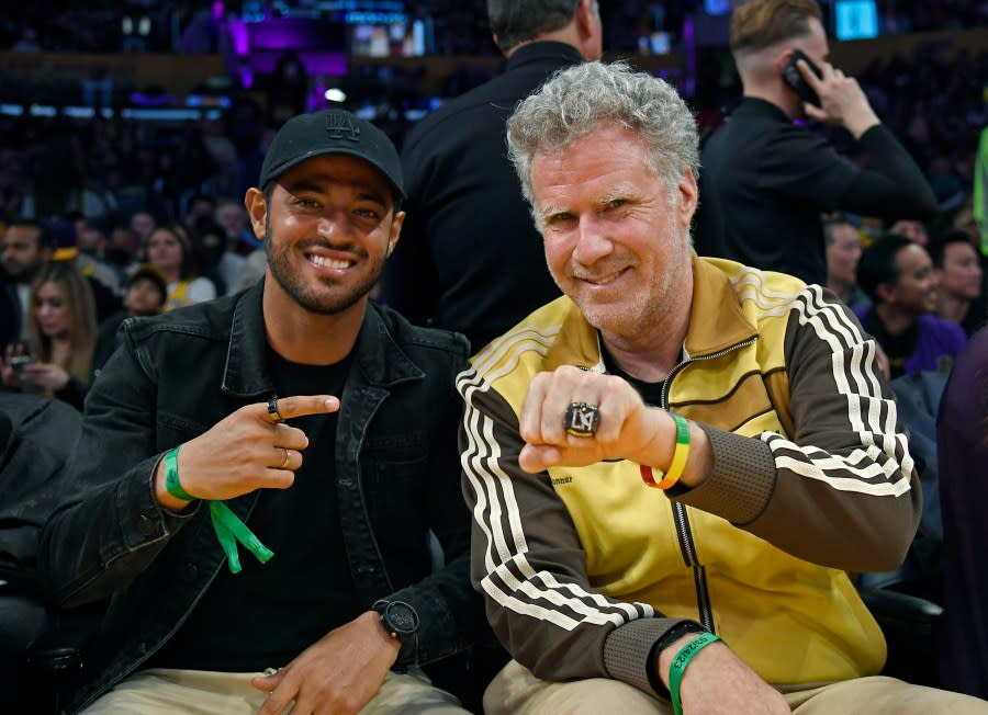
{"type": "MultiPolygon", "coordinates": [[[[325,367],[300,365],[270,349],[268,360],[281,396],[339,396],[349,366],[349,359],[325,367]]],[[[310,440],[295,483],[284,490],[262,490],[247,522],[274,557],[261,565],[239,546],[244,570],[220,570],[149,667],[227,672],[280,668],[359,615],[337,504],[336,413],[290,423],[310,440]]]]}

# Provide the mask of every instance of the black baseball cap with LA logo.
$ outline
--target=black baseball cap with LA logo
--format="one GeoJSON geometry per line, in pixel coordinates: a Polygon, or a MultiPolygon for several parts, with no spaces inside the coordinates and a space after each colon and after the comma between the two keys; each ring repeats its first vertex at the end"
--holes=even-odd
{"type": "Polygon", "coordinates": [[[300,114],[285,122],[268,147],[260,186],[306,159],[327,154],[363,159],[388,178],[398,201],[405,197],[402,162],[394,144],[373,124],[346,110],[300,114]]]}

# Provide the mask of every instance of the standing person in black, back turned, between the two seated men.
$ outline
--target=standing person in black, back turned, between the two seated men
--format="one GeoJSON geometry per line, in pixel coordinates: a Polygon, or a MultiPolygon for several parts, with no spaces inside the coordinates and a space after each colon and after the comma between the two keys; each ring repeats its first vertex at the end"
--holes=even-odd
{"type": "Polygon", "coordinates": [[[602,55],[596,0],[489,0],[503,75],[425,117],[402,164],[408,202],[384,300],[476,351],[560,295],[507,160],[505,123],[554,71],[602,55]]]}

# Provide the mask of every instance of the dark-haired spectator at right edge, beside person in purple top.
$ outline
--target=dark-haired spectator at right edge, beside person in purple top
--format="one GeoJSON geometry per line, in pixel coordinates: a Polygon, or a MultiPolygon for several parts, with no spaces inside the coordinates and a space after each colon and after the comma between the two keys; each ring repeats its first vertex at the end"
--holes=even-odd
{"type": "Polygon", "coordinates": [[[985,305],[985,272],[978,252],[964,231],[951,230],[930,246],[936,273],[936,315],[956,322],[973,336],[988,320],[985,305]]]}

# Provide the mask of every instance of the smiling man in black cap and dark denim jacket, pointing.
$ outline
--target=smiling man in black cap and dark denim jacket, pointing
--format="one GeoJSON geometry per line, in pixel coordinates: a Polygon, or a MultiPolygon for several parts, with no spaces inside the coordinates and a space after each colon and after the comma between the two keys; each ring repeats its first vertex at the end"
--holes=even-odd
{"type": "Polygon", "coordinates": [[[265,280],[124,322],[68,465],[83,486],[42,538],[58,603],[112,597],[70,711],[464,712],[419,667],[483,618],[456,443],[467,344],[368,300],[403,197],[373,125],[294,117],[246,196],[265,280]]]}

